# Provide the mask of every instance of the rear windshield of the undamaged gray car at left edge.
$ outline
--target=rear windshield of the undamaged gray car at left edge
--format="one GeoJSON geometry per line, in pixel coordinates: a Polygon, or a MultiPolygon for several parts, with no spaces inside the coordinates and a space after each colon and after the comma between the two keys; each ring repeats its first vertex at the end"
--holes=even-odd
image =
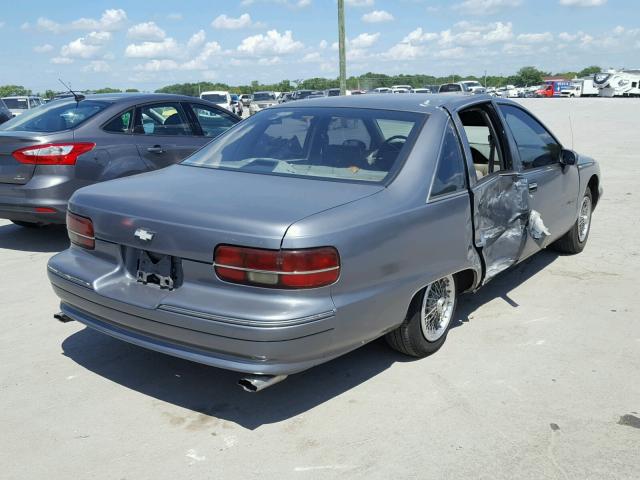
{"type": "Polygon", "coordinates": [[[0,130],[52,133],[69,130],[109,106],[97,100],[56,100],[0,125],[0,130]]]}

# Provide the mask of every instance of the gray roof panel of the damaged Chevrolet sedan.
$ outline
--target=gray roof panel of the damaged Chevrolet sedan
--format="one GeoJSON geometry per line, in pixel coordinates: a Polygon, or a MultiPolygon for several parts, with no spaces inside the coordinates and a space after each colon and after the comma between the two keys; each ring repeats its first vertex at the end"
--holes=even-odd
{"type": "Polygon", "coordinates": [[[335,108],[373,108],[378,110],[396,110],[407,112],[433,112],[439,107],[451,110],[477,103],[478,100],[492,100],[489,95],[473,95],[471,93],[430,94],[412,93],[411,95],[345,95],[340,97],[322,97],[298,100],[271,108],[296,107],[335,107],[335,108]]]}

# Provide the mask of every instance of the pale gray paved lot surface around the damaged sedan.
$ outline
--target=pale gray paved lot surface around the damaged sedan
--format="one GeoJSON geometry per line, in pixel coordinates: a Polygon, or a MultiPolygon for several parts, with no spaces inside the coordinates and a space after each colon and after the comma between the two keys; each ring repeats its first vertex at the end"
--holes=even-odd
{"type": "Polygon", "coordinates": [[[640,101],[521,102],[601,163],[589,244],[464,297],[424,360],[377,341],[248,394],[55,321],[65,231],[0,220],[0,478],[640,478],[640,101]]]}

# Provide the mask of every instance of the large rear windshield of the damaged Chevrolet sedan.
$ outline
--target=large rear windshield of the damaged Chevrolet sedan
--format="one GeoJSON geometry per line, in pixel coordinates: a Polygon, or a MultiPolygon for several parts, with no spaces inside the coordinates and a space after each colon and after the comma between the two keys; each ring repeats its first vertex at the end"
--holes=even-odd
{"type": "Polygon", "coordinates": [[[425,115],[356,108],[264,110],[183,164],[364,182],[400,168],[425,115]]]}

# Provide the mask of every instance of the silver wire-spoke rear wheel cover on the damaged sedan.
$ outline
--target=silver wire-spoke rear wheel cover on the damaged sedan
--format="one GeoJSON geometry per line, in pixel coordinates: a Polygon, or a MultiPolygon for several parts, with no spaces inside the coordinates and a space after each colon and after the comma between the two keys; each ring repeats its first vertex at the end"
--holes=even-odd
{"type": "Polygon", "coordinates": [[[451,275],[427,286],[422,299],[422,334],[429,342],[436,342],[444,335],[453,317],[456,292],[451,275]]]}

